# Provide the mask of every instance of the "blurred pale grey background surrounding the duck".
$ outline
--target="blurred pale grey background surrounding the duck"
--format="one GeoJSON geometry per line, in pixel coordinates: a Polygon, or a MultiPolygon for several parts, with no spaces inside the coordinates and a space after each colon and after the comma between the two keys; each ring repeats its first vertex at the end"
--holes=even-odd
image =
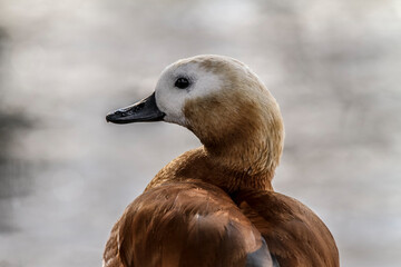
{"type": "Polygon", "coordinates": [[[401,266],[400,1],[0,0],[0,267],[101,265],[124,208],[199,145],[105,115],[200,53],[276,97],[274,187],[320,215],[342,266],[401,266]]]}

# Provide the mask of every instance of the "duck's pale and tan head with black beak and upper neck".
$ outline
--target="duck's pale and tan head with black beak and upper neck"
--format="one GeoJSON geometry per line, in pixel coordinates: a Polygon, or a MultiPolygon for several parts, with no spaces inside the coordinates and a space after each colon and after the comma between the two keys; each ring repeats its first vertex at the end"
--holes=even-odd
{"type": "Polygon", "coordinates": [[[150,97],[106,119],[184,126],[211,157],[247,174],[274,171],[283,148],[275,99],[250,68],[222,56],[197,56],[168,66],[150,97]]]}

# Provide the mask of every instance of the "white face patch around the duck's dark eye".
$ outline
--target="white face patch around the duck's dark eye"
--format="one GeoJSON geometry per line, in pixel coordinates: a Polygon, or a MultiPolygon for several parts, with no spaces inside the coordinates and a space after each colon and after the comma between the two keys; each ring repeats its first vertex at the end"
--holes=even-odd
{"type": "Polygon", "coordinates": [[[200,68],[197,62],[174,63],[162,72],[155,90],[156,103],[166,113],[165,121],[186,126],[183,111],[186,101],[216,92],[222,85],[222,77],[200,68]],[[179,78],[188,79],[190,85],[185,89],[175,87],[179,78]]]}

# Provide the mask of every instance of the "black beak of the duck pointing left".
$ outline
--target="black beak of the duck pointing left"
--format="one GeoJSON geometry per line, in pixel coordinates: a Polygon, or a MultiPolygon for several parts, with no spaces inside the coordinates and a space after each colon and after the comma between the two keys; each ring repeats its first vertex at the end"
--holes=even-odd
{"type": "Polygon", "coordinates": [[[159,121],[163,120],[165,113],[162,112],[157,105],[155,92],[151,96],[136,102],[129,107],[118,109],[106,116],[108,122],[130,123],[140,121],[159,121]]]}

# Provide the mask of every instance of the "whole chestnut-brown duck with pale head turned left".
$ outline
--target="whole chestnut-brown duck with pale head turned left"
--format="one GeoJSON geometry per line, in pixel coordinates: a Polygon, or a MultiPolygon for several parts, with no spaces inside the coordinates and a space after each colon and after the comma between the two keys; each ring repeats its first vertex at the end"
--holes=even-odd
{"type": "Polygon", "coordinates": [[[149,97],[106,120],[176,123],[202,146],[163,167],[128,205],[102,266],[340,266],[317,215],[273,189],[283,118],[246,65],[216,55],[180,59],[165,68],[149,97]]]}

